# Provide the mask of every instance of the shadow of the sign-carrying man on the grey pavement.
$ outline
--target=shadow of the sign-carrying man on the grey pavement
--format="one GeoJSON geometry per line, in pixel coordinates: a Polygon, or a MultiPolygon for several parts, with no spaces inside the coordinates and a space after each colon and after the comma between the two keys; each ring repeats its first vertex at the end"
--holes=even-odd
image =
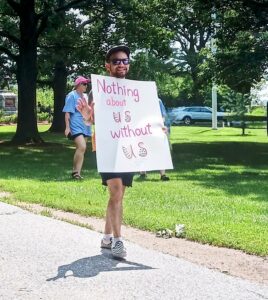
{"type": "Polygon", "coordinates": [[[152,270],[154,268],[138,264],[125,259],[115,259],[108,250],[100,255],[78,259],[70,264],[59,266],[58,274],[55,277],[48,278],[47,281],[55,281],[69,276],[87,278],[94,277],[100,272],[111,271],[129,271],[129,270],[152,270]],[[124,266],[117,267],[121,263],[124,266]]]}

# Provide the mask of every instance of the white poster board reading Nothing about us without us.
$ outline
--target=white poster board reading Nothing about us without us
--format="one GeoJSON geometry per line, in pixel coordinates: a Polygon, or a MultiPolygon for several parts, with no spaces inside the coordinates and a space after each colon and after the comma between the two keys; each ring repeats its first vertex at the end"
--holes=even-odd
{"type": "Polygon", "coordinates": [[[91,75],[99,172],[173,169],[155,82],[91,75]]]}

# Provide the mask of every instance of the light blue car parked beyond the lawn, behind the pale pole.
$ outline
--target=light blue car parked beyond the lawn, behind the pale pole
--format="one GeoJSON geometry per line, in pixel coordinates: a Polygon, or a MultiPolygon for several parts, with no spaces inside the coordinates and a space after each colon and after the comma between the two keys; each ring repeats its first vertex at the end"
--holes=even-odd
{"type": "MultiPolygon", "coordinates": [[[[175,107],[168,111],[168,117],[171,124],[184,123],[185,125],[190,125],[197,121],[208,122],[212,120],[212,109],[207,106],[175,107]]],[[[222,120],[223,117],[223,112],[217,112],[218,120],[222,120]]]]}

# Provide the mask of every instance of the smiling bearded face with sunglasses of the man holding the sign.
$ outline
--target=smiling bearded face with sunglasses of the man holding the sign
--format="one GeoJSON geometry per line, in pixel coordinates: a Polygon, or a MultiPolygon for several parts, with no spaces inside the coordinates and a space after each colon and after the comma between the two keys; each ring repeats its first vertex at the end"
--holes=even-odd
{"type": "Polygon", "coordinates": [[[125,78],[129,70],[129,59],[123,51],[115,52],[111,55],[110,61],[105,64],[110,76],[125,78]]]}

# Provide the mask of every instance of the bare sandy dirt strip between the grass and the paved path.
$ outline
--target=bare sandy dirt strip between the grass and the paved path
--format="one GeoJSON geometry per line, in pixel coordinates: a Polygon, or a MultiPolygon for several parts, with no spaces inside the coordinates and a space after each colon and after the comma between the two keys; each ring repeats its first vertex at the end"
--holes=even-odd
{"type": "MultiPolygon", "coordinates": [[[[38,204],[19,202],[16,205],[37,214],[49,215],[56,219],[83,225],[98,232],[102,232],[104,228],[103,219],[83,217],[74,213],[43,207],[38,204]]],[[[203,245],[185,239],[158,238],[153,233],[128,226],[123,226],[122,232],[126,240],[145,248],[183,258],[225,274],[268,284],[268,257],[249,255],[242,251],[203,245]]]]}

